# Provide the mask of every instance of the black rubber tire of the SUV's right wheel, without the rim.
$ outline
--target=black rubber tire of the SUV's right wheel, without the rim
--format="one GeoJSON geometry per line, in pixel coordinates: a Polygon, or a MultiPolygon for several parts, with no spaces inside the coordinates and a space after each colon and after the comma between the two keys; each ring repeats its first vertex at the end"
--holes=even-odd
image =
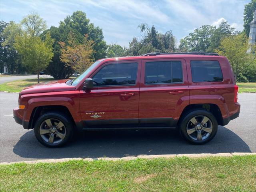
{"type": "Polygon", "coordinates": [[[182,122],[180,123],[180,134],[182,135],[183,138],[185,138],[188,142],[192,143],[192,144],[205,144],[207,142],[209,142],[210,140],[212,140],[214,138],[214,136],[216,135],[218,130],[218,122],[216,120],[216,118],[214,117],[214,115],[211,112],[208,112],[206,110],[196,110],[196,111],[192,111],[192,112],[188,112],[184,118],[182,119],[182,122]],[[187,133],[187,124],[189,122],[189,120],[195,116],[199,116],[199,115],[203,115],[208,117],[211,121],[212,121],[212,133],[210,134],[210,136],[208,138],[206,138],[205,140],[202,141],[196,141],[193,140],[192,138],[190,138],[190,136],[187,133]]]}

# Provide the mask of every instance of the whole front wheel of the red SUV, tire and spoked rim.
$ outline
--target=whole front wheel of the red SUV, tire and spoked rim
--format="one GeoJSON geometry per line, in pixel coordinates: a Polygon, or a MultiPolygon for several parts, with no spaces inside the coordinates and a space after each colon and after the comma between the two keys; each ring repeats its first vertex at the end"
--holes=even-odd
{"type": "Polygon", "coordinates": [[[70,118],[58,112],[49,112],[38,118],[34,127],[37,140],[47,147],[60,147],[70,140],[73,126],[70,118]]]}

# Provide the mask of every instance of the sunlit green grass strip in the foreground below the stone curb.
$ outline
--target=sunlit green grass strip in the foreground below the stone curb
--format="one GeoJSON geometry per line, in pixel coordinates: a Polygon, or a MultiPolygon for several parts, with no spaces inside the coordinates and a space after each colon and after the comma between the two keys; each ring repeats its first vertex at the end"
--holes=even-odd
{"type": "Polygon", "coordinates": [[[256,191],[256,155],[0,166],[0,191],[256,191]]]}

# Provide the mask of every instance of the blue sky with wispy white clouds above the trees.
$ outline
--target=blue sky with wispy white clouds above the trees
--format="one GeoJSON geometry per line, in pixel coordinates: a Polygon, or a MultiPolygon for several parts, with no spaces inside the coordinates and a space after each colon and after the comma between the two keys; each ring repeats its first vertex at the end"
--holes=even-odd
{"type": "Polygon", "coordinates": [[[86,13],[90,22],[100,26],[108,44],[128,46],[133,37],[141,37],[138,25],[154,25],[161,33],[172,30],[177,42],[202,25],[220,24],[222,20],[236,30],[243,30],[244,5],[250,0],[0,0],[0,20],[20,22],[36,11],[48,28],[76,10],[86,13]]]}

